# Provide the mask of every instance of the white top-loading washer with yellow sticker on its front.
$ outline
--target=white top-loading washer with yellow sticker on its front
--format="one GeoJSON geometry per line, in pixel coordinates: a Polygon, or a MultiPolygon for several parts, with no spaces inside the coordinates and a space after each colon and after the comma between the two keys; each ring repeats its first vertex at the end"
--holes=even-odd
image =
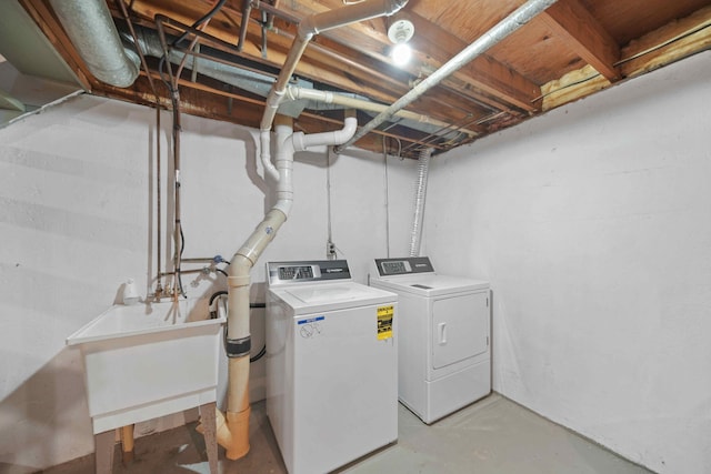
{"type": "Polygon", "coordinates": [[[269,262],[267,415],[290,474],[398,438],[398,296],[344,260],[269,262]]]}

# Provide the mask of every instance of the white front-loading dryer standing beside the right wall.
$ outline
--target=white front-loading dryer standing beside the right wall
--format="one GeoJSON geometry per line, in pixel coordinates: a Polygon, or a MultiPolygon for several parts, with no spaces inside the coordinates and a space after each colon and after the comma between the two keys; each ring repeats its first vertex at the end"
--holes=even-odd
{"type": "Polygon", "coordinates": [[[432,423],[491,393],[489,283],[438,275],[427,256],[377,259],[370,285],[398,294],[398,396],[432,423]]]}

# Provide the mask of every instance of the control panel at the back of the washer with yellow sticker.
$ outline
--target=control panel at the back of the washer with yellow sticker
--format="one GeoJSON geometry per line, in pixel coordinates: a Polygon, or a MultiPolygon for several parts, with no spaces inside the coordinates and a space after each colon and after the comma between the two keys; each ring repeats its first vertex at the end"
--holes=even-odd
{"type": "Polygon", "coordinates": [[[351,272],[346,260],[269,262],[267,278],[270,286],[278,286],[303,282],[351,280],[351,272]]]}

